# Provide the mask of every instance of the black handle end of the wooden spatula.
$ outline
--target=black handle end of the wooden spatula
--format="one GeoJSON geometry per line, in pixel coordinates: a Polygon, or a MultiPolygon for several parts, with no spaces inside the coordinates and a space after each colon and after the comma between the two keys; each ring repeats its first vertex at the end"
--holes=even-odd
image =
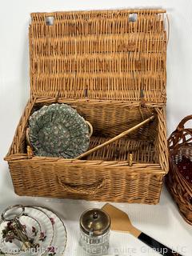
{"type": "Polygon", "coordinates": [[[154,250],[156,250],[159,254],[165,255],[165,256],[182,256],[181,254],[175,253],[173,250],[168,248],[167,246],[162,245],[161,242],[156,241],[154,238],[150,238],[149,235],[145,233],[141,233],[138,236],[138,239],[142,242],[146,243],[147,246],[152,247],[154,250]]]}

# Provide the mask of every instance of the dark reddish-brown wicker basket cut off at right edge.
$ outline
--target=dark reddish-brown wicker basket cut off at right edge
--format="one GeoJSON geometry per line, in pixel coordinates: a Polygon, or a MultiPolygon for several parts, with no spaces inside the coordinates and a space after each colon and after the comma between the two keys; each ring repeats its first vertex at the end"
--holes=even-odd
{"type": "Polygon", "coordinates": [[[170,172],[166,175],[166,186],[177,203],[180,214],[190,225],[192,225],[192,185],[191,181],[187,181],[178,170],[178,163],[183,161],[183,158],[192,162],[192,128],[185,127],[186,122],[191,120],[192,115],[183,118],[168,139],[170,172]]]}

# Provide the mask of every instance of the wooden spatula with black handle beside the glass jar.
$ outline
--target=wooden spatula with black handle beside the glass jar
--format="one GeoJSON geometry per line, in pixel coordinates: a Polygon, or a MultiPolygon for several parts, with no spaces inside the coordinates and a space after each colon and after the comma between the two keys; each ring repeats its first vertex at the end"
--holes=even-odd
{"type": "Polygon", "coordinates": [[[138,238],[142,242],[146,243],[147,246],[152,247],[159,254],[166,256],[182,256],[181,254],[175,253],[167,246],[162,245],[162,243],[156,241],[154,238],[150,238],[150,236],[144,234],[142,231],[134,227],[131,224],[128,215],[122,210],[119,210],[118,208],[110,205],[109,203],[103,206],[102,210],[106,211],[106,213],[110,215],[111,230],[130,233],[134,235],[135,238],[138,238]]]}

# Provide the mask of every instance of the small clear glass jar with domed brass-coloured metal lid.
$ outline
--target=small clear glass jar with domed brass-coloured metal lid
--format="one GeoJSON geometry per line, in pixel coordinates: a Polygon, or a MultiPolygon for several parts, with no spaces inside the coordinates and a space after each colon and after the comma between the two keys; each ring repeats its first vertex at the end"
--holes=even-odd
{"type": "Polygon", "coordinates": [[[110,217],[100,209],[86,210],[80,218],[80,246],[90,255],[105,255],[110,245],[110,217]]]}

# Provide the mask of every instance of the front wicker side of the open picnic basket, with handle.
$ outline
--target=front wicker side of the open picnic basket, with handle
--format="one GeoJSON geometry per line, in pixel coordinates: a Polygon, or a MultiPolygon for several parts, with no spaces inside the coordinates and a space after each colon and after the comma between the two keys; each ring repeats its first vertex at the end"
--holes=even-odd
{"type": "Polygon", "coordinates": [[[53,161],[53,158],[42,161],[33,158],[9,162],[16,194],[90,201],[159,202],[164,177],[159,165],[129,167],[127,162],[118,166],[108,161],[65,162],[53,161]]]}

